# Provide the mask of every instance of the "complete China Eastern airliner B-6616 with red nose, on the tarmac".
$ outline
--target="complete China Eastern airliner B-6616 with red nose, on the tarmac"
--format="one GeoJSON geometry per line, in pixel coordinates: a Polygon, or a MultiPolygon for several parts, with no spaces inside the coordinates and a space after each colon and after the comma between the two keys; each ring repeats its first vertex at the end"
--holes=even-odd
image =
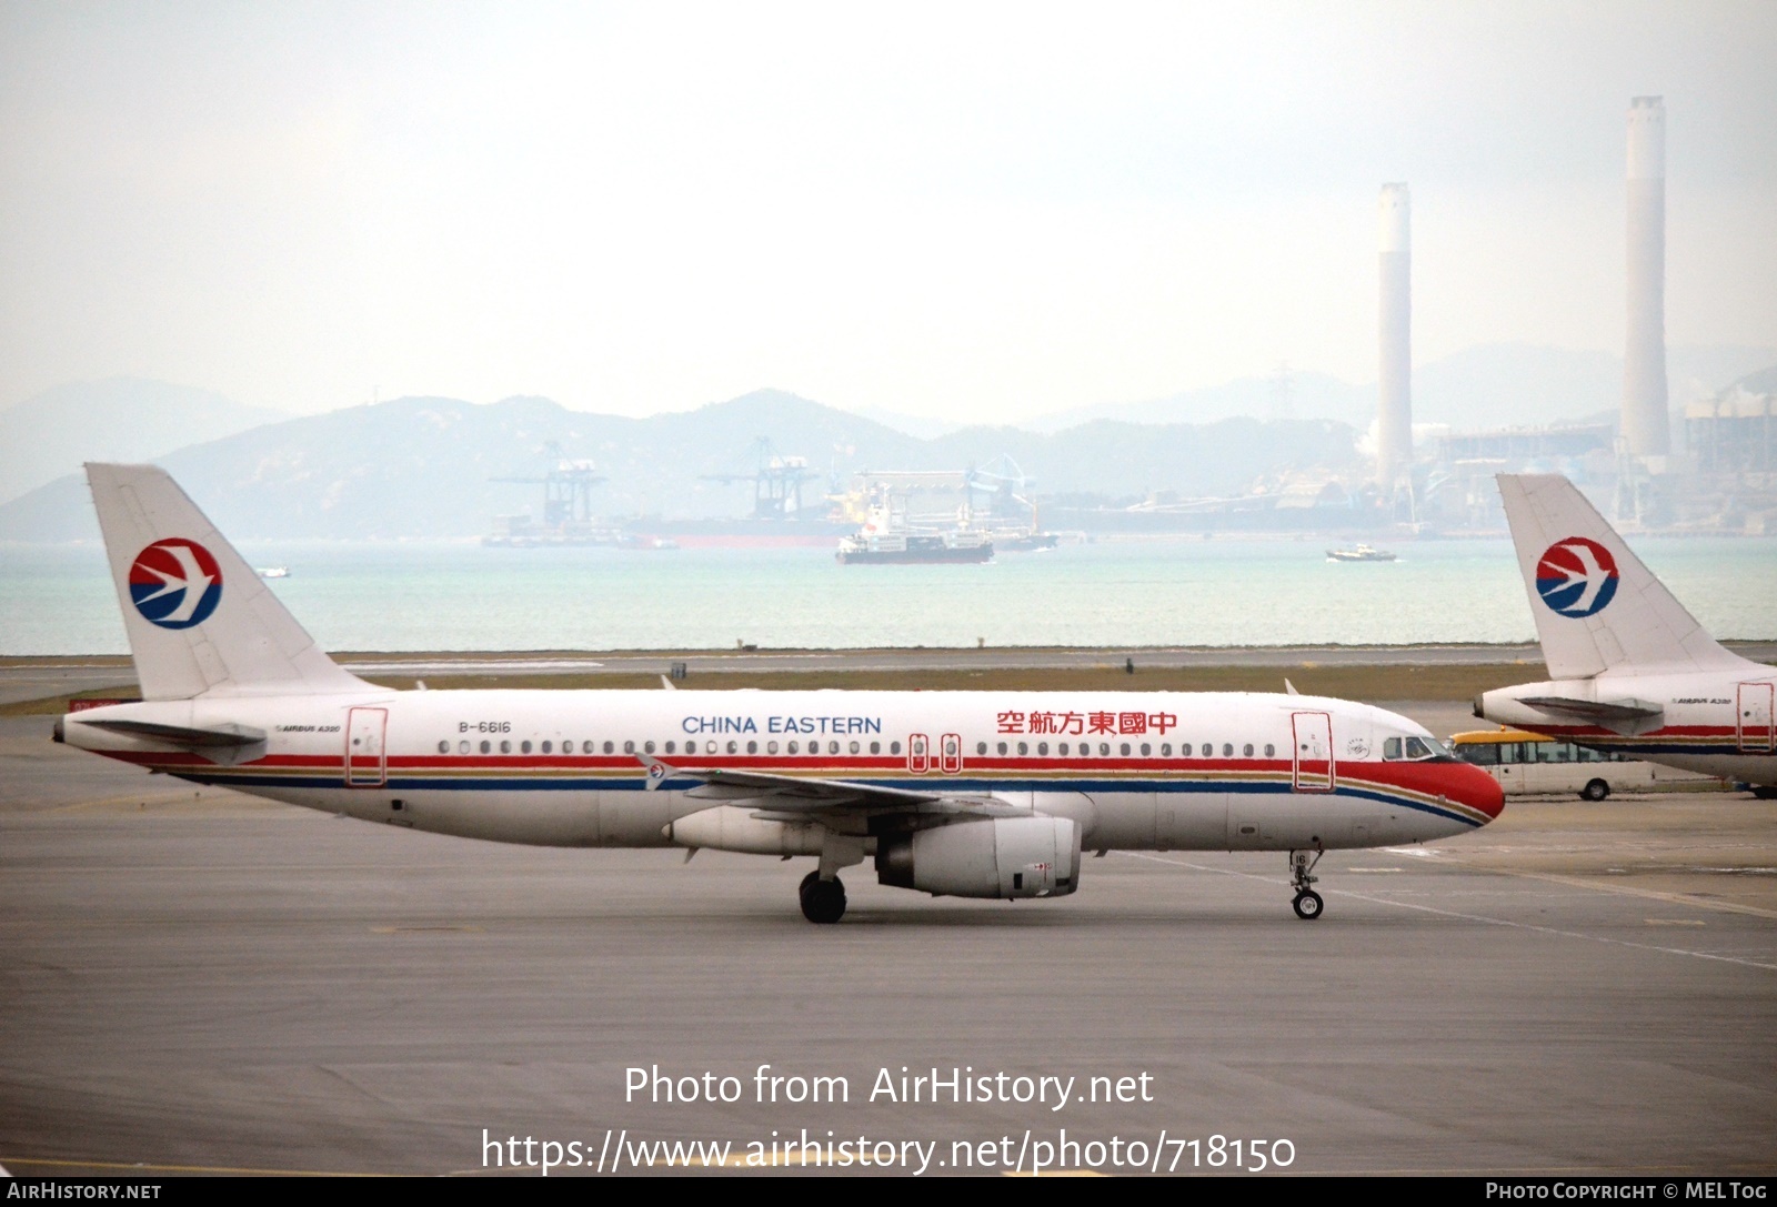
{"type": "Polygon", "coordinates": [[[809,855],[935,896],[1073,892],[1080,850],[1288,851],[1464,834],[1498,784],[1420,725],[1306,695],[396,691],[323,654],[160,469],[87,466],[142,702],[57,739],[195,784],[546,846],[809,855]]]}

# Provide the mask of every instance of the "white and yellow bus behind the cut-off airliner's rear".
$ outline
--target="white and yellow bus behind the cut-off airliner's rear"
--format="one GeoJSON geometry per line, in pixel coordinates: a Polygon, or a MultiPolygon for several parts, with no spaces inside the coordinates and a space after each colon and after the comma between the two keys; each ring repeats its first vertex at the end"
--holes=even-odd
{"type": "Polygon", "coordinates": [[[1612,793],[1708,793],[1725,780],[1523,729],[1450,734],[1450,754],[1500,780],[1507,796],[1605,800],[1612,793]]]}

